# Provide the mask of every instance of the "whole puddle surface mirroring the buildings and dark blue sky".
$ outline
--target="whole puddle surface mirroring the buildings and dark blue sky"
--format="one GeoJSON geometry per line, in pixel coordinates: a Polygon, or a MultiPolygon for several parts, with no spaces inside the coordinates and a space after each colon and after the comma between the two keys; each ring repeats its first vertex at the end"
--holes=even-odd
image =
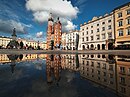
{"type": "Polygon", "coordinates": [[[130,97],[130,56],[0,54],[0,97],[130,97]]]}

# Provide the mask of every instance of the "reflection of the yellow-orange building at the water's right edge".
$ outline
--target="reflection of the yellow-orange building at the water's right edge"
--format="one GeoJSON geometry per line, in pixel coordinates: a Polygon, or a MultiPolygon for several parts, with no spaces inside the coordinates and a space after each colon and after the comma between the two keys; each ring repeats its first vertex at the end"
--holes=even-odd
{"type": "Polygon", "coordinates": [[[130,97],[130,56],[116,56],[117,91],[122,96],[130,97]]]}

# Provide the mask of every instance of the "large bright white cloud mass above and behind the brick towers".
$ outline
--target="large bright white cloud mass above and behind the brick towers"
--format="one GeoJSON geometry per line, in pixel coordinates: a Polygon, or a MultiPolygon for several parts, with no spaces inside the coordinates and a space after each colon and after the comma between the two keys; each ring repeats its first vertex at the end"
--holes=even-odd
{"type": "Polygon", "coordinates": [[[79,9],[74,7],[67,0],[27,0],[26,9],[33,12],[34,20],[46,22],[49,13],[61,18],[63,31],[73,30],[77,26],[72,23],[72,19],[77,17],[79,9]]]}

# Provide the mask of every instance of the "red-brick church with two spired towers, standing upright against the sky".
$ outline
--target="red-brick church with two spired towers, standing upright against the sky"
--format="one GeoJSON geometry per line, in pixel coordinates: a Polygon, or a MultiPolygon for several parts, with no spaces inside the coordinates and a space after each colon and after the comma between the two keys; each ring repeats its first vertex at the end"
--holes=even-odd
{"type": "Polygon", "coordinates": [[[62,24],[60,23],[59,17],[54,23],[52,14],[48,19],[47,26],[47,49],[53,50],[61,45],[61,35],[62,35],[62,24]]]}

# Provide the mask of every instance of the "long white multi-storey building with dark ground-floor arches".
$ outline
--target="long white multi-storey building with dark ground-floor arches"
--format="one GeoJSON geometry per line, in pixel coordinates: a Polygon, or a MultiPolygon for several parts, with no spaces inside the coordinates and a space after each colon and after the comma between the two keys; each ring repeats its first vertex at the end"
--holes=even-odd
{"type": "Polygon", "coordinates": [[[114,45],[113,13],[80,25],[79,50],[108,50],[114,45]]]}

